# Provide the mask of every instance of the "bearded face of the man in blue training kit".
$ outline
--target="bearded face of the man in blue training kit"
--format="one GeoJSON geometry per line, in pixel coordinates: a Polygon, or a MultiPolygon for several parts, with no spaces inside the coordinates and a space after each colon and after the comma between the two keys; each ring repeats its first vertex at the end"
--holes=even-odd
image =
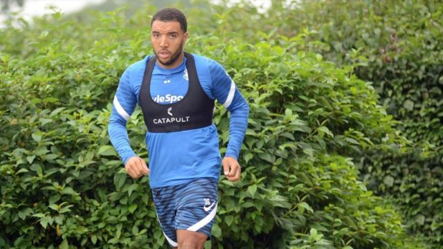
{"type": "Polygon", "coordinates": [[[188,39],[178,21],[159,21],[152,23],[151,44],[159,66],[175,68],[183,62],[183,46],[188,39]]]}

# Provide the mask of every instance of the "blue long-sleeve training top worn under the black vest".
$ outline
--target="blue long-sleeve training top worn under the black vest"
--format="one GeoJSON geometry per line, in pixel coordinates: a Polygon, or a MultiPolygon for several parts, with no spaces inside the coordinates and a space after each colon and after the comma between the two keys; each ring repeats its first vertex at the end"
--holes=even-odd
{"type": "MultiPolygon", "coordinates": [[[[249,108],[233,80],[213,59],[195,55],[195,65],[202,89],[212,100],[223,103],[230,111],[229,142],[225,156],[238,158],[248,123],[249,108]]],[[[143,73],[148,55],[129,66],[120,83],[109,119],[108,133],[123,163],[136,156],[129,145],[126,122],[139,104],[143,73]]],[[[177,68],[166,69],[156,64],[152,71],[151,97],[155,102],[170,104],[180,101],[188,91],[186,57],[177,68]]],[[[165,187],[187,183],[194,178],[220,176],[221,156],[215,124],[199,129],[168,133],[147,132],[145,137],[150,157],[150,186],[165,187]]]]}

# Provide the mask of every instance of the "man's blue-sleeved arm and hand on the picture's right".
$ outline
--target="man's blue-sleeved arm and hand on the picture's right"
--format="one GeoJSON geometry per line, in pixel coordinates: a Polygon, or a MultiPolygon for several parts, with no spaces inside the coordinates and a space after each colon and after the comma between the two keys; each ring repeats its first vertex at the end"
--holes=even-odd
{"type": "Polygon", "coordinates": [[[222,160],[224,174],[229,181],[238,181],[242,172],[238,156],[248,127],[249,107],[224,68],[214,62],[210,66],[212,93],[230,111],[229,142],[222,160]]]}

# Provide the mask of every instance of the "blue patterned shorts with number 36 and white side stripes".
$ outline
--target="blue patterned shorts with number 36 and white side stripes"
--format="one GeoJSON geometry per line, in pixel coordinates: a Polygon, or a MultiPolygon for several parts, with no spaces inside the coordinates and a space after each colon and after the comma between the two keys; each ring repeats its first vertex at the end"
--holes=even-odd
{"type": "Polygon", "coordinates": [[[177,230],[201,232],[210,239],[217,212],[217,191],[214,178],[152,189],[157,217],[171,246],[177,246],[177,230]]]}

